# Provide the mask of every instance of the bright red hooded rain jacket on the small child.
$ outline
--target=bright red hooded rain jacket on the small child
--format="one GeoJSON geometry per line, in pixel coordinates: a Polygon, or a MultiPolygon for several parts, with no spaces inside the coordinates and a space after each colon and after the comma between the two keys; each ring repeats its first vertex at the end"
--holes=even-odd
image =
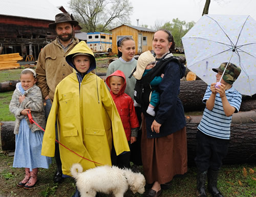
{"type": "Polygon", "coordinates": [[[109,77],[106,78],[106,85],[110,87],[110,77],[119,76],[124,79],[124,84],[118,94],[114,94],[110,90],[110,94],[116,104],[117,111],[121,117],[123,128],[127,137],[127,140],[131,140],[131,128],[139,127],[139,121],[135,112],[132,98],[124,93],[126,87],[126,80],[124,73],[121,70],[116,70],[109,77]]]}

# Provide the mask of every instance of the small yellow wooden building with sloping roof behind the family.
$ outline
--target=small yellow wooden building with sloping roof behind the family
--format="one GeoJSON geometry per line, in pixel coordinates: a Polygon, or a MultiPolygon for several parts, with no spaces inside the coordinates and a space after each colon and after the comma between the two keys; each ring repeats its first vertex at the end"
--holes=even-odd
{"type": "Polygon", "coordinates": [[[118,53],[117,41],[124,36],[131,36],[136,43],[136,54],[141,54],[147,50],[152,50],[152,40],[155,31],[130,24],[122,24],[110,30],[112,33],[112,52],[118,53]]]}

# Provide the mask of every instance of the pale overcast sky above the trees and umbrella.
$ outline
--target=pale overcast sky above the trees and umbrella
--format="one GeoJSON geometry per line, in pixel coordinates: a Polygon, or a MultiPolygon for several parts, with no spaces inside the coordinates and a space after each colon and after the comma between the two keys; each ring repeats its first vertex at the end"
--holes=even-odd
{"type": "MultiPolygon", "coordinates": [[[[55,6],[63,6],[68,12],[70,0],[52,0],[55,6]]],[[[148,28],[155,24],[172,22],[173,18],[185,22],[197,22],[202,16],[205,0],[129,0],[133,6],[130,17],[131,24],[139,26],[147,24],[148,28]],[[157,3],[156,3],[157,2],[157,3]]],[[[211,0],[208,14],[250,15],[256,19],[255,0],[211,0]]],[[[72,13],[72,12],[71,12],[72,13]]]]}

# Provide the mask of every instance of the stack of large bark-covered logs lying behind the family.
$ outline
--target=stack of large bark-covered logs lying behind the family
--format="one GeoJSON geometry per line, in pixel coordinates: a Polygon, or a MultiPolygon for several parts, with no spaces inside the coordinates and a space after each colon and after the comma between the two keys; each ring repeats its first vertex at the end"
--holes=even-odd
{"type": "MultiPolygon", "coordinates": [[[[195,81],[181,80],[179,98],[183,103],[185,113],[193,113],[194,111],[202,112],[205,108],[202,99],[207,84],[201,79],[197,79],[195,81]]],[[[202,115],[186,116],[189,165],[195,164],[196,133],[201,118],[202,115]]],[[[12,134],[14,122],[1,122],[1,127],[2,149],[13,150],[15,147],[15,136],[12,134]]],[[[240,112],[233,114],[230,131],[231,138],[228,155],[223,163],[256,163],[256,94],[253,96],[243,95],[240,112]]]]}

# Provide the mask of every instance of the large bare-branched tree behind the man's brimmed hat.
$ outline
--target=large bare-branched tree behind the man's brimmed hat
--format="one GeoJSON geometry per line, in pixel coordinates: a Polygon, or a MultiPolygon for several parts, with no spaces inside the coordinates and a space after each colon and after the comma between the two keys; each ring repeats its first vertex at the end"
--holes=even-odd
{"type": "Polygon", "coordinates": [[[69,6],[87,32],[104,32],[114,23],[129,22],[133,11],[129,0],[71,0],[69,6]]]}

